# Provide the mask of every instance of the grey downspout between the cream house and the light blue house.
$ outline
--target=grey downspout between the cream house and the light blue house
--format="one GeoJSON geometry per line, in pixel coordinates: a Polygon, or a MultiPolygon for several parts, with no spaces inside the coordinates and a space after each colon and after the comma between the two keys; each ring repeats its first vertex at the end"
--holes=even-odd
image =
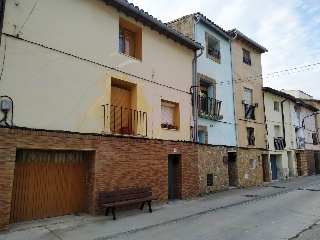
{"type": "MultiPolygon", "coordinates": [[[[194,23],[194,41],[196,41],[196,25],[200,21],[200,16],[195,16],[197,21],[194,23]]],[[[197,51],[194,51],[194,59],[192,60],[193,64],[193,141],[199,142],[198,135],[198,80],[197,80],[197,59],[203,54],[203,48],[201,48],[201,53],[197,55],[197,51]]]]}

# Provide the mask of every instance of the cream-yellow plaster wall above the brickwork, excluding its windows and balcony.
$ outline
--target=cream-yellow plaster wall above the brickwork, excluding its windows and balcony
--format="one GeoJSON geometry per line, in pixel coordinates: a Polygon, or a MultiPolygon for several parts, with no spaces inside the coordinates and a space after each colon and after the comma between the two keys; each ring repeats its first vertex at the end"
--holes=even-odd
{"type": "Polygon", "coordinates": [[[38,1],[26,21],[35,3],[6,2],[3,33],[32,42],[2,35],[0,95],[13,99],[17,126],[106,132],[102,105],[110,104],[111,78],[117,78],[136,84],[148,137],[190,140],[191,50],[103,1],[38,1]],[[118,52],[120,18],[142,29],[142,61],[118,52]],[[179,131],[161,129],[161,99],[179,103],[179,131]]]}

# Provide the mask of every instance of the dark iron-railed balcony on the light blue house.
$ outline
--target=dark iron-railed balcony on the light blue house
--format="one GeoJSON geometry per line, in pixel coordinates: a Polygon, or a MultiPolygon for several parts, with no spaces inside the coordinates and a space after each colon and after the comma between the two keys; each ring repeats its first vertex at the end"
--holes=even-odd
{"type": "Polygon", "coordinates": [[[200,117],[212,120],[221,120],[223,118],[223,116],[220,115],[222,101],[199,95],[198,102],[200,117]]]}

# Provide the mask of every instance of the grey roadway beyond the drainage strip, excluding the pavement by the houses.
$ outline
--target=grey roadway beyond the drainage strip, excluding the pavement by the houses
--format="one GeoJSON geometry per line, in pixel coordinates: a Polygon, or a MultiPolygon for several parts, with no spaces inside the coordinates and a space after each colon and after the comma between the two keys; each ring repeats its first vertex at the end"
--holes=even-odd
{"type": "MultiPolygon", "coordinates": [[[[258,197],[258,196],[257,196],[258,197]]],[[[256,198],[257,198],[256,197],[256,198]]],[[[253,196],[251,196],[254,199],[253,196]]],[[[320,185],[141,229],[121,240],[320,239],[320,185]],[[310,228],[310,229],[309,229],[310,228]]]]}

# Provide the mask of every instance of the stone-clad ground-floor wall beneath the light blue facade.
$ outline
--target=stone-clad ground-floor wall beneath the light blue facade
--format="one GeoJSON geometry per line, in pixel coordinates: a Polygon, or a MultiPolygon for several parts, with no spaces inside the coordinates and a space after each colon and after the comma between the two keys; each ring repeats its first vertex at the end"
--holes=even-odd
{"type": "Polygon", "coordinates": [[[199,195],[229,189],[228,148],[199,145],[199,195]],[[207,174],[213,174],[213,186],[207,186],[207,174]]]}

